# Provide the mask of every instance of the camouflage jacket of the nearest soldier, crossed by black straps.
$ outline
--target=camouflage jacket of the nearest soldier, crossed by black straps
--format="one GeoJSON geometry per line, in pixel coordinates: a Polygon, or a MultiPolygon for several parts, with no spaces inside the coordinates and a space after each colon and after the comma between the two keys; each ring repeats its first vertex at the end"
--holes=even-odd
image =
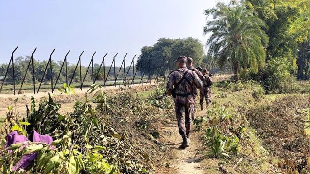
{"type": "MultiPolygon", "coordinates": [[[[167,83],[167,90],[171,91],[174,85],[176,85],[179,80],[181,80],[183,74],[185,71],[188,70],[186,67],[179,68],[176,71],[173,71],[169,76],[169,81],[167,83]]],[[[203,82],[199,79],[198,75],[191,70],[188,70],[188,73],[186,74],[184,80],[179,84],[179,86],[176,88],[176,94],[187,94],[193,92],[193,85],[195,85],[196,88],[203,87],[203,82]],[[187,80],[191,83],[189,84],[187,80]]],[[[174,99],[175,104],[186,104],[186,103],[194,103],[194,96],[192,94],[188,96],[179,96],[176,95],[174,99]]]]}

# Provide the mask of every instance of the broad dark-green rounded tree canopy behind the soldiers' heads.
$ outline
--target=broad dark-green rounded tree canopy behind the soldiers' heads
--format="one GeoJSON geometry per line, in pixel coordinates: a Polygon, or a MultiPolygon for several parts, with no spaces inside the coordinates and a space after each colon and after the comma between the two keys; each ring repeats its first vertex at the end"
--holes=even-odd
{"type": "Polygon", "coordinates": [[[153,46],[141,48],[136,67],[142,73],[164,76],[166,71],[174,69],[174,60],[180,55],[192,57],[194,62],[202,62],[204,57],[203,44],[199,39],[191,37],[185,39],[159,38],[153,46]]]}

